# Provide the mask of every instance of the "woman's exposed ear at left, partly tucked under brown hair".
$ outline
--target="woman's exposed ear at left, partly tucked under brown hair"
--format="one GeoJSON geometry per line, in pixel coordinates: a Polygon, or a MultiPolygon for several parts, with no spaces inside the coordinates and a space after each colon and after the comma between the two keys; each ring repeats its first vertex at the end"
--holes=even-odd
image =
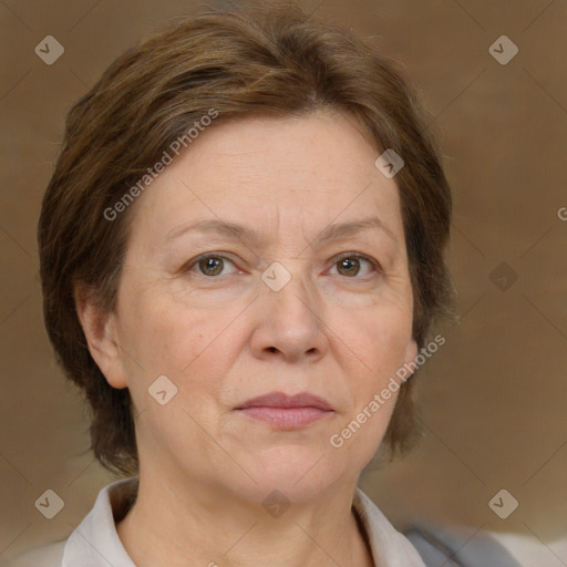
{"type": "Polygon", "coordinates": [[[116,333],[115,313],[103,312],[95,295],[85,286],[75,286],[76,313],[83,328],[89,352],[113,388],[126,388],[123,352],[116,333]]]}

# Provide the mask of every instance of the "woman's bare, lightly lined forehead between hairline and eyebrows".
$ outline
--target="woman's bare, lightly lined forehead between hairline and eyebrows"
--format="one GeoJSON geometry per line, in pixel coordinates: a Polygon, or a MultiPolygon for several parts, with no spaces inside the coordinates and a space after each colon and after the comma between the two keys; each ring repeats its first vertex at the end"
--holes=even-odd
{"type": "Polygon", "coordinates": [[[398,187],[374,166],[378,155],[354,118],[339,112],[220,122],[138,198],[133,229],[144,225],[162,239],[216,219],[309,238],[333,220],[378,216],[400,235],[398,187]]]}

